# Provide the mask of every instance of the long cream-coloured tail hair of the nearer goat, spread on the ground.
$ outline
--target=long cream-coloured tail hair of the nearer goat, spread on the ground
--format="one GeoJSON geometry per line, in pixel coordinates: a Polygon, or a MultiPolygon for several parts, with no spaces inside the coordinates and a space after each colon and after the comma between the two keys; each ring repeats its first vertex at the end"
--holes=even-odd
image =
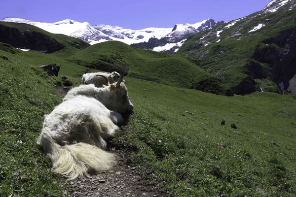
{"type": "MultiPolygon", "coordinates": [[[[43,130],[46,130],[43,128],[43,130]]],[[[83,142],[60,146],[48,134],[42,133],[37,139],[53,164],[53,172],[68,179],[88,176],[89,171],[103,171],[112,167],[115,156],[97,146],[83,142]]]]}

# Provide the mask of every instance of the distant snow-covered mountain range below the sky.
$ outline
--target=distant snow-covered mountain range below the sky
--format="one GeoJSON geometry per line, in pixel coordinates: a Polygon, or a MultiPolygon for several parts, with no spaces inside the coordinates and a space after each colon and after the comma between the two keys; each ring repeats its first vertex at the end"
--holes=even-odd
{"type": "Polygon", "coordinates": [[[114,25],[92,26],[87,22],[80,23],[69,19],[56,23],[42,23],[21,18],[3,18],[2,21],[27,23],[50,33],[62,33],[77,37],[90,44],[118,40],[126,44],[132,44],[137,48],[171,53],[176,52],[189,35],[211,29],[220,23],[225,23],[224,21],[216,22],[213,19],[207,19],[192,25],[178,24],[173,28],[130,30],[114,25]]]}

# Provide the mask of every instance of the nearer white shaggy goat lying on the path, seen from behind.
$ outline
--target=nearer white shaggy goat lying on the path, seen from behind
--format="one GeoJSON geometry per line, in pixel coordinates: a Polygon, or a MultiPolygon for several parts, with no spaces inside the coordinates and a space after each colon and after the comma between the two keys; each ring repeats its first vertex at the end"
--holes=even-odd
{"type": "Polygon", "coordinates": [[[122,78],[104,88],[93,84],[73,88],[45,116],[37,143],[51,159],[55,173],[75,179],[111,168],[114,155],[104,151],[105,139],[118,129],[115,124],[124,123],[118,112],[134,107],[122,78]]]}

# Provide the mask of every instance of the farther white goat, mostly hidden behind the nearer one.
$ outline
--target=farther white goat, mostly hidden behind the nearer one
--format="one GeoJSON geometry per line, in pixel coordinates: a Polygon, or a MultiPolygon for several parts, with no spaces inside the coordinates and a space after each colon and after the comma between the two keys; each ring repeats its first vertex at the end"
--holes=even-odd
{"type": "MultiPolygon", "coordinates": [[[[100,88],[103,85],[108,85],[106,83],[105,77],[109,80],[110,83],[117,82],[120,79],[120,74],[118,72],[93,72],[83,74],[81,83],[82,84],[95,84],[96,87],[100,88]]],[[[122,80],[125,83],[124,80],[122,80]]]]}

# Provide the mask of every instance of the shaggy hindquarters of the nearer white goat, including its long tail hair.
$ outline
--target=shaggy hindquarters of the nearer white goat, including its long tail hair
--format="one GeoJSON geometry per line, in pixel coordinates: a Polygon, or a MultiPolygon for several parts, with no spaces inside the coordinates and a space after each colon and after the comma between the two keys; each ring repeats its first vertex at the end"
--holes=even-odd
{"type": "Polygon", "coordinates": [[[61,116],[56,109],[45,117],[37,139],[37,143],[52,160],[54,172],[75,179],[87,176],[88,171],[110,169],[114,156],[102,149],[107,147],[104,139],[113,136],[118,129],[111,119],[74,110],[63,114],[60,122],[50,124],[53,117],[56,120],[61,116]]]}

